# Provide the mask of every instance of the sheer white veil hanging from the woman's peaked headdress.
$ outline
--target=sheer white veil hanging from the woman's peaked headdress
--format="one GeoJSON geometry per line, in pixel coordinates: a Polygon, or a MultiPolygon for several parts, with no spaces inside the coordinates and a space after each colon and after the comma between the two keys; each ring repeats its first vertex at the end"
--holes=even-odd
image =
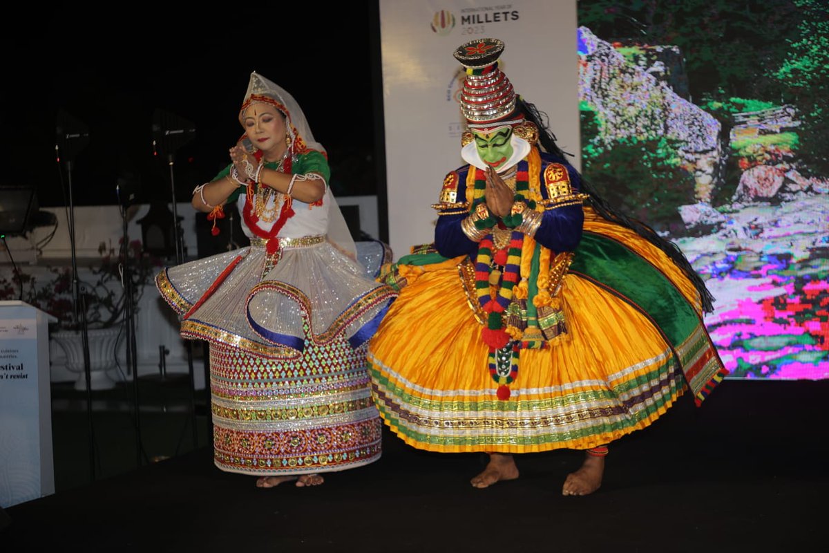
{"type": "MultiPolygon", "coordinates": [[[[291,137],[288,153],[293,158],[296,158],[307,148],[317,150],[323,154],[326,153],[322,144],[313,138],[311,127],[308,126],[308,119],[305,119],[303,109],[299,107],[297,100],[293,99],[293,96],[288,94],[287,90],[254,71],[250,74],[248,90],[245,92],[245,99],[242,100],[242,107],[239,112],[240,121],[245,114],[245,109],[248,109],[250,104],[257,102],[273,105],[284,114],[285,127],[291,137]]],[[[325,200],[323,201],[328,202],[328,240],[337,245],[337,248],[349,255],[351,259],[356,260],[356,245],[354,245],[354,239],[351,238],[351,231],[348,230],[342,211],[337,206],[337,200],[334,199],[327,183],[325,200]]]]}

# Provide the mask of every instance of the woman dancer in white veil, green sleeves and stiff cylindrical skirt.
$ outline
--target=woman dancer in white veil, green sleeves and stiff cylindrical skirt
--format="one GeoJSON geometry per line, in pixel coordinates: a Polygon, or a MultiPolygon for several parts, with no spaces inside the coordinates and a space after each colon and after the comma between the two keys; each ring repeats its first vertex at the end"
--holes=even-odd
{"type": "Polygon", "coordinates": [[[322,483],[381,455],[366,342],[396,293],[366,277],[327,187],[325,150],[288,92],[253,73],[231,163],[192,204],[235,203],[250,247],[165,269],[182,337],[210,343],[216,466],[322,483]]]}

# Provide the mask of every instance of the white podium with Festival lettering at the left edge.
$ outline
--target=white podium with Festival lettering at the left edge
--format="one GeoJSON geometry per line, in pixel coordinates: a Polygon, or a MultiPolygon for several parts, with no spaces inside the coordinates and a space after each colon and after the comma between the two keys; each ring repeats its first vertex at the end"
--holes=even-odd
{"type": "Polygon", "coordinates": [[[0,302],[0,507],[55,492],[49,327],[23,302],[0,302]]]}

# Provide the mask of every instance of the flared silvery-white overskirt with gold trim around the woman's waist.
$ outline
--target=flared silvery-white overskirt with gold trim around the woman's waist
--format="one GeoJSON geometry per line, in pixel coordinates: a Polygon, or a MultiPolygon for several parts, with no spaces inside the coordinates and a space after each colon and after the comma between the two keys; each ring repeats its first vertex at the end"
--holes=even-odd
{"type": "Polygon", "coordinates": [[[214,255],[165,269],[156,284],[187,313],[183,337],[268,357],[296,357],[308,340],[359,346],[396,296],[325,240],[284,248],[279,258],[264,247],[214,255]]]}

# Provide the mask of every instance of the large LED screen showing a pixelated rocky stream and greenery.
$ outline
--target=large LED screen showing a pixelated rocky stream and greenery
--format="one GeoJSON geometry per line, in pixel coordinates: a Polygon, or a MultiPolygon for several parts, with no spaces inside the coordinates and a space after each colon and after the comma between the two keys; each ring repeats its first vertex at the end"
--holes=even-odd
{"type": "Polygon", "coordinates": [[[829,7],[579,2],[584,177],[679,245],[731,378],[829,378],[829,7]]]}

